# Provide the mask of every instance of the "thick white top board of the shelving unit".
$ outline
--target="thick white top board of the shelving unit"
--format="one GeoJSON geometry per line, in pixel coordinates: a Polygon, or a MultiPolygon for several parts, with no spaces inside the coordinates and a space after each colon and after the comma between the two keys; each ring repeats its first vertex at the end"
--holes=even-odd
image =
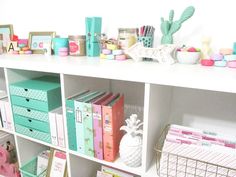
{"type": "Polygon", "coordinates": [[[0,55],[0,67],[236,93],[236,69],[97,57],[0,55]]]}

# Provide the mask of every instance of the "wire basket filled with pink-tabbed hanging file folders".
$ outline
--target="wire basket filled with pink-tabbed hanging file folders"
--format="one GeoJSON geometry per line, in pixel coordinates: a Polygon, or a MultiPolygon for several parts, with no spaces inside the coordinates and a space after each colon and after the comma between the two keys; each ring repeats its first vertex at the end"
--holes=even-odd
{"type": "Polygon", "coordinates": [[[236,138],[171,125],[160,160],[162,176],[236,175],[236,138]],[[235,170],[234,170],[235,169],[235,170]]]}

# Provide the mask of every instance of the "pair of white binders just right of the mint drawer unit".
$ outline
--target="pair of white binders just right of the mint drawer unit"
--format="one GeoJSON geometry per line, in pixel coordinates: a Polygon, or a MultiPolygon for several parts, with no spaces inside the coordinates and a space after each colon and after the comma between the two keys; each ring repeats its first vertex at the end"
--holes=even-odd
{"type": "Polygon", "coordinates": [[[65,129],[62,107],[49,112],[48,117],[52,144],[55,146],[65,147],[65,129]]]}

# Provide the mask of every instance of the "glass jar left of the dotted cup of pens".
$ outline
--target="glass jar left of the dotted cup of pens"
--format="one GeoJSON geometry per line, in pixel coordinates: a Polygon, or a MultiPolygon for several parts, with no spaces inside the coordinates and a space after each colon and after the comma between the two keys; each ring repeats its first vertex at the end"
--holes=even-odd
{"type": "Polygon", "coordinates": [[[118,43],[121,49],[128,49],[137,42],[138,28],[119,28],[118,43]]]}

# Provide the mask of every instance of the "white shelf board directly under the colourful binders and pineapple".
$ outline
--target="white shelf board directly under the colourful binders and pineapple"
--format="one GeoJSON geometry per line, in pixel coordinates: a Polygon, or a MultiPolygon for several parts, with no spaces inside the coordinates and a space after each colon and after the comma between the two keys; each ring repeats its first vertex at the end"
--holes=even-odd
{"type": "Polygon", "coordinates": [[[135,175],[142,176],[142,174],[143,174],[142,166],[137,167],[137,168],[128,167],[127,165],[122,163],[120,158],[118,158],[115,162],[107,162],[107,161],[100,160],[100,159],[97,159],[97,158],[94,158],[94,157],[89,157],[87,155],[80,154],[80,153],[72,151],[72,150],[69,150],[69,153],[73,154],[75,156],[78,156],[78,157],[82,157],[82,158],[94,161],[94,162],[98,162],[98,163],[103,164],[103,165],[107,165],[107,166],[110,166],[110,167],[113,167],[113,168],[123,170],[123,171],[129,172],[129,173],[135,174],[135,175]]]}

